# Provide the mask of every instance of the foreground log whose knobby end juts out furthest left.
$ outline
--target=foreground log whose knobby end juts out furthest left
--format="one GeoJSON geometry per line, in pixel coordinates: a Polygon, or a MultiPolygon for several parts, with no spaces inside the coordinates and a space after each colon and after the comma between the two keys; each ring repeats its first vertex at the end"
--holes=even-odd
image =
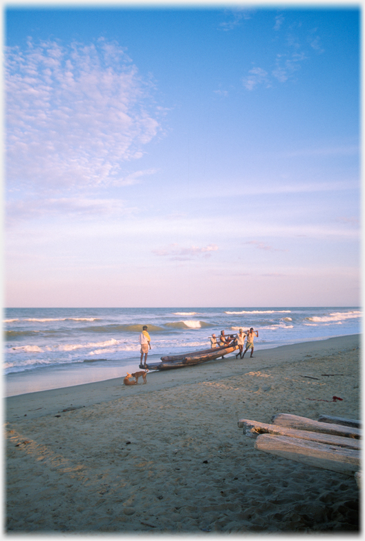
{"type": "Polygon", "coordinates": [[[238,421],[238,426],[243,428],[243,434],[248,437],[257,437],[259,434],[272,434],[277,436],[297,437],[307,439],[310,442],[319,442],[321,444],[337,445],[350,449],[360,449],[360,440],[350,437],[333,436],[331,434],[322,434],[319,432],[310,432],[309,430],[295,430],[286,428],[277,424],[259,423],[248,419],[238,421]]]}

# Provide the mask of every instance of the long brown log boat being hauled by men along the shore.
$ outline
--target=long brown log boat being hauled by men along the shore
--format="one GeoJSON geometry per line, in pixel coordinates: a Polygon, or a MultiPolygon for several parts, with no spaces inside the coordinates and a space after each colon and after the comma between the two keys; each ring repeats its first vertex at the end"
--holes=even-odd
{"type": "Polygon", "coordinates": [[[193,351],[180,355],[167,355],[161,357],[160,363],[148,363],[149,370],[170,370],[171,368],[184,368],[195,364],[206,363],[213,359],[224,357],[235,350],[238,350],[238,345],[221,346],[219,348],[209,348],[208,350],[193,351]]]}

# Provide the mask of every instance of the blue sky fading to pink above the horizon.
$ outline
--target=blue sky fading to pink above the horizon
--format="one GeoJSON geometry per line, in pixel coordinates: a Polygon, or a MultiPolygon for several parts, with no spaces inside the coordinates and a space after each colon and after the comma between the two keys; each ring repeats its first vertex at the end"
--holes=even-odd
{"type": "Polygon", "coordinates": [[[4,8],[8,307],[359,305],[359,9],[250,6],[4,8]]]}

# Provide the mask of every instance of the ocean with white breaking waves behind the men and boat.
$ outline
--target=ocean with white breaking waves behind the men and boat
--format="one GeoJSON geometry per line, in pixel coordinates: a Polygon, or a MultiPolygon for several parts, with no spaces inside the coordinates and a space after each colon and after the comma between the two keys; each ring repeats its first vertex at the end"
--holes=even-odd
{"type": "Polygon", "coordinates": [[[209,336],[253,327],[255,350],[358,334],[359,307],[8,308],[7,396],[102,381],[138,369],[142,325],[149,360],[210,347],[209,336]]]}

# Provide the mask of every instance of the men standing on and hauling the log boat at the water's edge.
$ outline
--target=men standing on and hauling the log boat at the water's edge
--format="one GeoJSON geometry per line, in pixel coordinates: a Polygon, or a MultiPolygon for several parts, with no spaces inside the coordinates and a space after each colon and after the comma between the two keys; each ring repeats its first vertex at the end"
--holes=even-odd
{"type": "MultiPolygon", "coordinates": [[[[236,354],[236,359],[238,355],[240,356],[241,359],[243,359],[243,357],[245,357],[245,352],[247,350],[251,350],[250,357],[252,357],[252,354],[254,353],[254,336],[259,337],[259,331],[254,331],[252,327],[250,328],[250,330],[247,330],[245,332],[243,331],[243,329],[240,329],[238,334],[236,334],[236,336],[233,336],[232,334],[230,334],[230,336],[225,336],[225,332],[223,330],[221,331],[221,335],[219,336],[218,341],[216,339],[216,335],[212,334],[210,343],[212,345],[212,348],[217,348],[218,345],[219,346],[230,345],[231,343],[233,345],[234,343],[236,343],[239,349],[238,353],[236,354]],[[243,352],[243,346],[245,345],[246,337],[247,337],[246,349],[243,352]]],[[[139,340],[140,340],[140,346],[141,346],[140,368],[147,368],[147,364],[146,364],[147,355],[148,355],[149,349],[151,349],[151,338],[147,332],[147,325],[143,325],[139,340]],[[144,364],[142,364],[143,355],[144,355],[144,364]]]]}

